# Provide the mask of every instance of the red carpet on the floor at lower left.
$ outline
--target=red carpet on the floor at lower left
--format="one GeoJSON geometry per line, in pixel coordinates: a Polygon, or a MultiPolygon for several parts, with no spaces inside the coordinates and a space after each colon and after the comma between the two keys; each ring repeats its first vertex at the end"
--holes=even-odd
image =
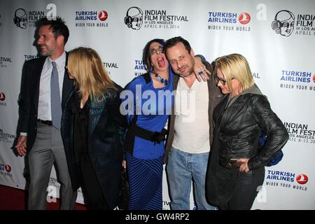
{"type": "MultiPolygon", "coordinates": [[[[27,206],[25,190],[0,185],[0,210],[25,210],[27,206]]],[[[57,202],[48,203],[47,210],[58,210],[57,202]]],[[[76,210],[87,210],[85,205],[76,204],[76,210]]]]}

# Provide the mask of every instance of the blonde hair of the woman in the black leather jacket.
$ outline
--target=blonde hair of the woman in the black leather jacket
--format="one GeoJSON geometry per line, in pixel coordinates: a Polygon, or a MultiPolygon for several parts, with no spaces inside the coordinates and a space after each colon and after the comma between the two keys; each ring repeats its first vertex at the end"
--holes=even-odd
{"type": "Polygon", "coordinates": [[[243,91],[248,90],[248,88],[255,84],[249,64],[242,55],[231,54],[219,57],[216,60],[214,75],[216,75],[217,69],[221,69],[230,90],[232,90],[232,78],[239,80],[243,91]]]}

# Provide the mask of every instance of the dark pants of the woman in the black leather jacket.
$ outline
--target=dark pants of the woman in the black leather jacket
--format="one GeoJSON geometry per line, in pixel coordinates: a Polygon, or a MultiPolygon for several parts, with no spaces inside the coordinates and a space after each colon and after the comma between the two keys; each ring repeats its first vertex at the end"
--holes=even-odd
{"type": "Polygon", "coordinates": [[[255,197],[258,194],[257,188],[262,186],[265,179],[265,167],[255,169],[248,173],[239,173],[239,169],[225,169],[231,176],[237,179],[235,192],[231,200],[220,207],[221,210],[250,210],[255,197]]]}

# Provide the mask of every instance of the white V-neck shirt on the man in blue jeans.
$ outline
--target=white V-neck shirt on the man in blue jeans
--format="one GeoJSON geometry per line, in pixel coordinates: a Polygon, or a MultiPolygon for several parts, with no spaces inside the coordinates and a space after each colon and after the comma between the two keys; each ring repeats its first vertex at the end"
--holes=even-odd
{"type": "Polygon", "coordinates": [[[207,153],[209,144],[207,82],[195,80],[189,88],[183,78],[175,93],[175,133],[172,146],[187,153],[207,153]]]}

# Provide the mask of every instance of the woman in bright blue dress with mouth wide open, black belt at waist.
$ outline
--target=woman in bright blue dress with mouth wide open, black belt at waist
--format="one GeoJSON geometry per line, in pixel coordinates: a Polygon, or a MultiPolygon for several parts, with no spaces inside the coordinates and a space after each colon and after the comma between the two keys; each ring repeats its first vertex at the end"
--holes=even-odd
{"type": "MultiPolygon", "coordinates": [[[[158,38],[146,43],[142,59],[147,73],[128,83],[125,94],[120,97],[127,105],[128,209],[162,210],[163,156],[167,134],[164,127],[174,102],[174,73],[165,57],[164,45],[165,41],[158,38]],[[128,98],[129,95],[132,97],[128,98]]],[[[196,72],[207,71],[200,57],[195,57],[195,61],[196,72]]]]}

